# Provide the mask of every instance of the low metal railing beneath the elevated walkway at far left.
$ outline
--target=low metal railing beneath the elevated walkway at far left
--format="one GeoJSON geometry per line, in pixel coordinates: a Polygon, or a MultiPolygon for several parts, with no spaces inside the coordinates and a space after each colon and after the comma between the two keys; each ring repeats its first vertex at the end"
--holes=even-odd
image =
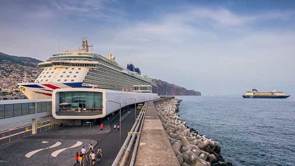
{"type": "MultiPolygon", "coordinates": [[[[37,122],[36,133],[47,131],[55,126],[57,126],[57,124],[52,125],[50,120],[37,122]]],[[[0,145],[11,143],[12,141],[20,140],[21,138],[31,135],[32,124],[0,131],[0,145]]]]}

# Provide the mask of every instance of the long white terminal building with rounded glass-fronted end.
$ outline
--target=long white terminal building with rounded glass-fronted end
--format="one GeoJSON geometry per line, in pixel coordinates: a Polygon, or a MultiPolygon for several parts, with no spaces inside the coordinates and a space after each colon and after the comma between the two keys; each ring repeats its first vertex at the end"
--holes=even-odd
{"type": "Polygon", "coordinates": [[[121,107],[154,100],[156,93],[120,92],[107,89],[63,88],[52,93],[52,116],[56,119],[98,119],[121,107]],[[131,99],[134,98],[134,99],[131,99]]]}

